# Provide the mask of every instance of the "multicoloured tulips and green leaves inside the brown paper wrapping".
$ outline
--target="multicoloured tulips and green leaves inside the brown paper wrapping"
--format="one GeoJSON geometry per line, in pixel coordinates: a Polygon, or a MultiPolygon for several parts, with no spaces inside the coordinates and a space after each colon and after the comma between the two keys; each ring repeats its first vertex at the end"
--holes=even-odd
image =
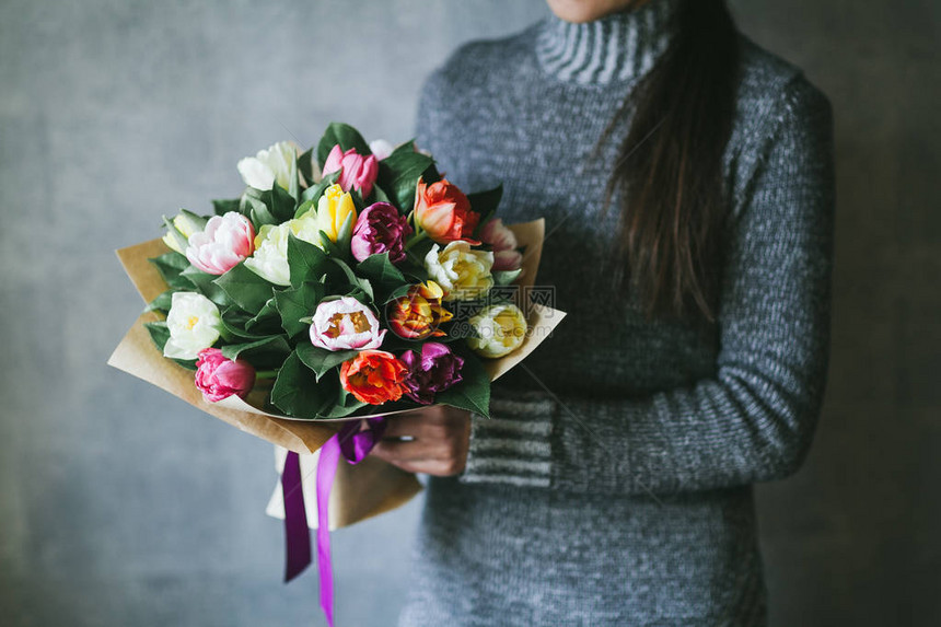
{"type": "Polygon", "coordinates": [[[443,403],[488,414],[481,359],[519,349],[522,272],[500,188],[465,195],[411,143],[333,124],[316,149],[239,162],[247,189],[213,216],[165,220],[167,289],[144,324],[210,403],[247,398],[299,419],[443,403]],[[316,152],[316,154],[314,154],[316,152]],[[323,173],[317,163],[323,164],[323,173]]]}

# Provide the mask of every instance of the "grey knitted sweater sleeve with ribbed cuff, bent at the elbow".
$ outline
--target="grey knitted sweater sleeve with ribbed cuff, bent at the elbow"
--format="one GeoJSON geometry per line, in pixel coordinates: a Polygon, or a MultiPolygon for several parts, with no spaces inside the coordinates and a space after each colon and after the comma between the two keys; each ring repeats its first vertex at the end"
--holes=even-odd
{"type": "Polygon", "coordinates": [[[800,466],[828,361],[829,103],[794,80],[762,128],[735,185],[712,376],[647,397],[546,388],[495,400],[491,419],[474,418],[461,480],[641,495],[778,479],[800,466]]]}

